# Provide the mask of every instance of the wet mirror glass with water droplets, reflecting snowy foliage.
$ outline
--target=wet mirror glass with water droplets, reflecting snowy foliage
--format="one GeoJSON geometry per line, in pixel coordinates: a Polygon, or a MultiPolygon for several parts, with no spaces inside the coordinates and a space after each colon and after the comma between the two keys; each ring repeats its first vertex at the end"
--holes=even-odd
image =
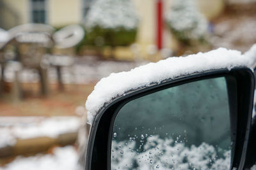
{"type": "Polygon", "coordinates": [[[224,77],[129,101],[115,118],[111,169],[229,169],[229,117],[224,77]]]}

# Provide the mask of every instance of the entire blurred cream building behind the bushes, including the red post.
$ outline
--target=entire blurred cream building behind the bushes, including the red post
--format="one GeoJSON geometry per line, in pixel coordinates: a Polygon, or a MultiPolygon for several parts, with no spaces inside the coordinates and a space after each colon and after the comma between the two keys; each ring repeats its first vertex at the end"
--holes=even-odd
{"type": "MultiPolygon", "coordinates": [[[[10,29],[15,25],[45,23],[54,27],[68,24],[83,24],[86,12],[93,0],[1,0],[0,27],[10,29]]],[[[140,24],[136,44],[140,52],[146,55],[155,55],[159,49],[177,48],[177,41],[173,38],[170,29],[164,25],[164,11],[172,6],[172,0],[132,0],[140,24]],[[161,6],[159,4],[161,3],[161,6]],[[161,11],[159,11],[161,10],[161,11]],[[159,14],[161,16],[159,16],[159,14]],[[159,23],[163,25],[159,25],[159,23]],[[158,23],[158,24],[157,24],[158,23]]],[[[218,16],[224,7],[225,0],[196,0],[200,11],[209,20],[218,16]]],[[[165,50],[168,52],[168,50],[165,50]]],[[[168,54],[167,54],[168,55],[168,54]]]]}

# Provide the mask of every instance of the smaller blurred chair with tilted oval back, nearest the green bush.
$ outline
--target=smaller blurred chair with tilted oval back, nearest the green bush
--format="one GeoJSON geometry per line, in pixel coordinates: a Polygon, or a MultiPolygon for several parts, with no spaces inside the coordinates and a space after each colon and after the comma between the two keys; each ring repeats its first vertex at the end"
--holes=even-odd
{"type": "Polygon", "coordinates": [[[81,25],[68,25],[63,27],[59,31],[54,32],[52,39],[54,40],[54,46],[58,50],[63,52],[52,53],[49,55],[49,62],[51,66],[56,67],[58,75],[59,89],[63,90],[63,78],[61,76],[61,67],[72,66],[74,64],[74,58],[72,54],[65,52],[64,49],[71,49],[82,41],[84,38],[84,29],[81,25]]]}

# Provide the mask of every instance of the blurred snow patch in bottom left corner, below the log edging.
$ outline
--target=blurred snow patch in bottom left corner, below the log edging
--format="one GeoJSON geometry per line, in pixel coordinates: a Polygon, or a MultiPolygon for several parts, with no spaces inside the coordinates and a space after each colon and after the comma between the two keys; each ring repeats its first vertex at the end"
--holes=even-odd
{"type": "Polygon", "coordinates": [[[77,170],[78,155],[73,146],[55,148],[52,154],[35,157],[17,157],[13,162],[0,167],[0,170],[77,170]]]}

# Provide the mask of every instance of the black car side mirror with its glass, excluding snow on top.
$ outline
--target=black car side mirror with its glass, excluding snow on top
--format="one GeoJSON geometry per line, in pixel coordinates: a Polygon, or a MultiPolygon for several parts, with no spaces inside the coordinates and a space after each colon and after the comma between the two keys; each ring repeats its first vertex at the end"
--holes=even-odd
{"type": "Polygon", "coordinates": [[[86,169],[243,169],[253,89],[236,67],[126,92],[95,115],[86,169]]]}

